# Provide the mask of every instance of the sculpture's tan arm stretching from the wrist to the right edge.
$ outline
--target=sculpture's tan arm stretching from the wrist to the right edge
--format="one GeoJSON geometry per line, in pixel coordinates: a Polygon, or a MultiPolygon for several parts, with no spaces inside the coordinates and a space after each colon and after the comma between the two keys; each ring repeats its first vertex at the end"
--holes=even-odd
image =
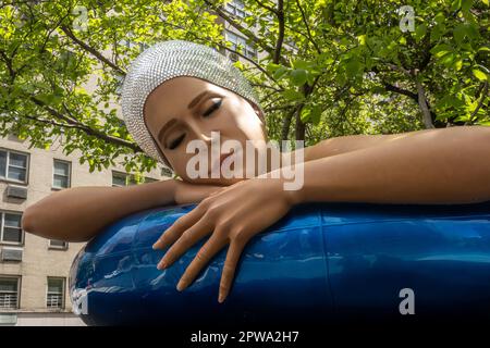
{"type": "Polygon", "coordinates": [[[304,169],[304,185],[291,192],[295,202],[486,201],[490,200],[490,128],[414,132],[298,166],[304,169]]]}

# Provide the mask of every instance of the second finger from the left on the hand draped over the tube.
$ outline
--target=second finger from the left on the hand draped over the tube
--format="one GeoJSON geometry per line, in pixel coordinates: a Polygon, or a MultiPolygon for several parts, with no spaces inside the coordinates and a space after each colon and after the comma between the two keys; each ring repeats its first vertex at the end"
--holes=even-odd
{"type": "Polygon", "coordinates": [[[163,256],[158,269],[163,270],[168,268],[176,259],[179,259],[187,249],[199,241],[203,237],[212,232],[212,224],[209,219],[200,219],[195,225],[187,228],[181,237],[172,245],[172,247],[163,256]]]}

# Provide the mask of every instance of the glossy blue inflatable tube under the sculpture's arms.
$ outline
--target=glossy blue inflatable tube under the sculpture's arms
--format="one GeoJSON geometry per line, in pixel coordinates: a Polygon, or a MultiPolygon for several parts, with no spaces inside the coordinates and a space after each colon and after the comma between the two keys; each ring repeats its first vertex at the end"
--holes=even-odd
{"type": "Polygon", "coordinates": [[[223,303],[226,248],[182,293],[176,283],[206,240],[156,268],[166,250],[152,244],[194,207],[127,215],[81,250],[70,293],[87,324],[389,318],[408,297],[415,315],[490,313],[490,201],[299,204],[250,239],[223,303]]]}

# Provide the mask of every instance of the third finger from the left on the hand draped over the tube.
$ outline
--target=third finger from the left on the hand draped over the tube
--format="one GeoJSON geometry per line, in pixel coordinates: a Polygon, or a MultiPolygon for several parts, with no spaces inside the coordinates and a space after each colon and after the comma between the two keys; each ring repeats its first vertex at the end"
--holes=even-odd
{"type": "Polygon", "coordinates": [[[185,270],[181,279],[177,284],[177,290],[182,291],[188,285],[191,285],[196,276],[199,274],[200,270],[209,263],[215,254],[218,253],[225,245],[226,240],[212,234],[211,237],[206,241],[206,244],[199,249],[194,260],[185,270]]]}

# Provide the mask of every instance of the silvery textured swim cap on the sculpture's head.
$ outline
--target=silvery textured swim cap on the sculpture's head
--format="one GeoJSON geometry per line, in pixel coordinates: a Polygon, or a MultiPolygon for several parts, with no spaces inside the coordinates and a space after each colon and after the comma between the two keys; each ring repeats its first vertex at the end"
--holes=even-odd
{"type": "Polygon", "coordinates": [[[250,84],[225,55],[211,47],[185,40],[155,44],[132,62],[122,87],[121,107],[127,130],[135,141],[148,156],[169,167],[171,165],[146,125],[143,108],[155,88],[177,76],[198,77],[234,91],[255,104],[264,116],[250,84]]]}

